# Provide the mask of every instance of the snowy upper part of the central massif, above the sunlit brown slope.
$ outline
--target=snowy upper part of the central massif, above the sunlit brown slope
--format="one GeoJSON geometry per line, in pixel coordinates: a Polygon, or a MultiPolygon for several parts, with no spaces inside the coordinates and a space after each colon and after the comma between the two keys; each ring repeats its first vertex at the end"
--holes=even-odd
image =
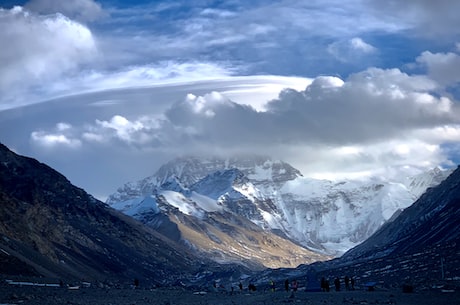
{"type": "MultiPolygon", "coordinates": [[[[448,174],[436,169],[402,181],[332,182],[303,177],[289,164],[265,157],[190,157],[125,184],[107,203],[140,220],[171,208],[198,220],[235,215],[308,249],[340,255],[448,174]],[[150,210],[149,197],[156,200],[150,210]]],[[[177,223],[177,215],[169,218],[177,223]]]]}

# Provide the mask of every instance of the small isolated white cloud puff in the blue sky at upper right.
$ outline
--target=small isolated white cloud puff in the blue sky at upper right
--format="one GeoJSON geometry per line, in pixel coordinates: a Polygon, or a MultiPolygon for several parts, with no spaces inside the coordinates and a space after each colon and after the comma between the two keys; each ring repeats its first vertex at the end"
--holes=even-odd
{"type": "Polygon", "coordinates": [[[372,56],[377,49],[359,37],[331,43],[327,51],[341,62],[362,62],[372,56]]]}

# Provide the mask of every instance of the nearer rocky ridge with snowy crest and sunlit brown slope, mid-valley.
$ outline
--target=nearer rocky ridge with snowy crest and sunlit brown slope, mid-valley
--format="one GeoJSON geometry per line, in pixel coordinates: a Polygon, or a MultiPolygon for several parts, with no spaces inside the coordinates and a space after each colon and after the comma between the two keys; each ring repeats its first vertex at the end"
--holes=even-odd
{"type": "Polygon", "coordinates": [[[150,194],[112,207],[219,263],[261,269],[328,258],[265,230],[264,215],[276,207],[239,169],[217,170],[190,187],[177,177],[160,181],[150,194]]]}

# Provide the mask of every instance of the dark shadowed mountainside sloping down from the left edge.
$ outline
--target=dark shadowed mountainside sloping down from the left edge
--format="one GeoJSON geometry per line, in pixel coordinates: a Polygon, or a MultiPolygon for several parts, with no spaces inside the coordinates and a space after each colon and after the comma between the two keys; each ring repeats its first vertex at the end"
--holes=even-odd
{"type": "Polygon", "coordinates": [[[208,261],[0,144],[0,262],[1,274],[171,283],[208,261]]]}

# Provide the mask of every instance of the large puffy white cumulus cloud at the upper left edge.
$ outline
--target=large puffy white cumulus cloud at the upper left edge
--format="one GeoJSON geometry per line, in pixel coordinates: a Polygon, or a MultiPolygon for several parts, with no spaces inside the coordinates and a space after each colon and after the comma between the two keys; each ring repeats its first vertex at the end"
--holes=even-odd
{"type": "Polygon", "coordinates": [[[27,101],[26,92],[42,91],[97,55],[91,31],[61,14],[37,15],[21,7],[0,9],[0,91],[2,100],[27,101]]]}

